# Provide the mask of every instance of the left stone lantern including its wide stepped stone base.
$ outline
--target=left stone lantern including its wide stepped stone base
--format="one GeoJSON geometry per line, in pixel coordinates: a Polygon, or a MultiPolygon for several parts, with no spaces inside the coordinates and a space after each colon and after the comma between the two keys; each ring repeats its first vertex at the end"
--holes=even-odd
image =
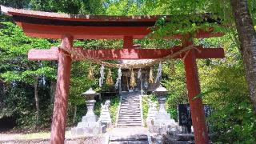
{"type": "Polygon", "coordinates": [[[82,122],[78,122],[78,126],[71,129],[73,135],[96,135],[104,132],[102,122],[98,121],[97,115],[94,114],[94,97],[98,94],[91,88],[85,93],[87,113],[82,117],[82,122]]]}

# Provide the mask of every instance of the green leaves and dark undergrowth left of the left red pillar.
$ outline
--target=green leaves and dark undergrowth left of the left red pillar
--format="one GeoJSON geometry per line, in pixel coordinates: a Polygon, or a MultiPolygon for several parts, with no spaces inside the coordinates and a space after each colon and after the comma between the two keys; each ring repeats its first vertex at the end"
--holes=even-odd
{"type": "MultiPolygon", "coordinates": [[[[50,41],[28,38],[12,22],[1,22],[0,25],[0,78],[4,83],[4,87],[1,87],[1,115],[15,116],[18,126],[34,127],[34,83],[39,84],[40,100],[48,94],[46,83],[55,79],[56,68],[50,62],[30,62],[26,54],[31,48],[50,47],[50,41]]],[[[43,109],[47,106],[40,107],[43,109]]],[[[44,119],[42,116],[39,121],[44,119]]]]}

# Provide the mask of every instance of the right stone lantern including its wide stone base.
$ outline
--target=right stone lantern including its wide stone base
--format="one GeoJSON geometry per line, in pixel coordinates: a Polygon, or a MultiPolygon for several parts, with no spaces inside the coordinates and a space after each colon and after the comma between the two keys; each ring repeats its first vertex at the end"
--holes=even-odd
{"type": "Polygon", "coordinates": [[[178,123],[170,118],[170,114],[167,113],[165,108],[166,94],[168,94],[168,90],[160,85],[154,90],[154,94],[158,98],[159,110],[158,113],[155,114],[150,132],[164,134],[167,131],[179,131],[180,127],[178,126],[178,123]]]}

